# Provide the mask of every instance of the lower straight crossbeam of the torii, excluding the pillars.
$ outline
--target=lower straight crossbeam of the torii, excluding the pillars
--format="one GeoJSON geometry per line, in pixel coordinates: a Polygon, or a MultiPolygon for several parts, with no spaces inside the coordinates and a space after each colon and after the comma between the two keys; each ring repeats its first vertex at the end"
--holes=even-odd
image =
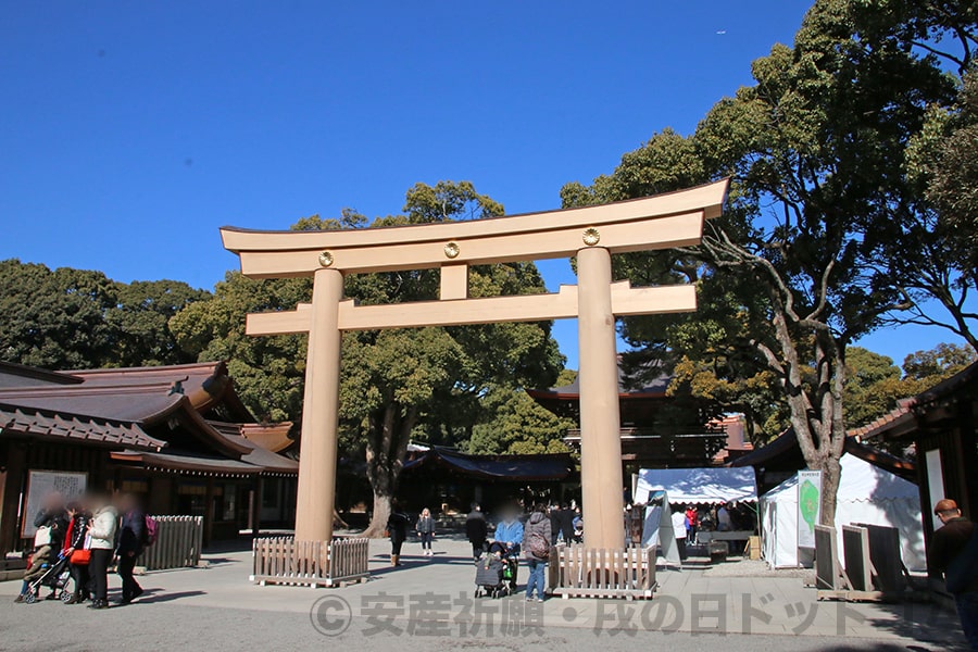
{"type": "MultiPolygon", "coordinates": [[[[695,287],[691,285],[631,288],[628,281],[611,286],[612,311],[616,316],[690,312],[697,309],[695,287]]],[[[560,292],[519,294],[487,299],[418,301],[385,305],[356,305],[340,302],[340,330],[412,328],[422,326],[461,326],[498,322],[538,322],[577,317],[577,286],[561,286],[560,292]]],[[[310,304],[294,311],[248,315],[248,335],[287,335],[309,333],[310,304]]]]}

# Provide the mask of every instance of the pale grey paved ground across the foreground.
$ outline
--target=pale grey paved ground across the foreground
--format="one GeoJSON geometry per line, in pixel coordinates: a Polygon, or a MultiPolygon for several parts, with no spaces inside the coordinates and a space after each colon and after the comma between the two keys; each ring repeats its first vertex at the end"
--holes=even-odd
{"type": "MultiPolygon", "coordinates": [[[[601,645],[607,649],[648,641],[673,652],[702,650],[705,642],[711,643],[706,649],[716,649],[713,641],[720,641],[725,651],[752,652],[963,649],[956,618],[948,612],[927,604],[817,602],[815,591],[805,588],[797,574],[728,577],[691,565],[660,569],[661,589],[651,601],[549,599],[527,604],[522,594],[474,600],[475,572],[464,541],[436,542],[436,555],[430,559],[417,554],[417,544],[408,544],[404,566],[397,569],[387,564],[386,542],[374,541],[371,550],[371,581],[315,590],[252,585],[250,552],[206,555],[206,569],[143,576],[140,581],[147,592],[137,603],[105,612],[54,602],[14,605],[11,601],[20,582],[3,582],[0,649],[37,649],[39,631],[45,631],[47,642],[41,645],[57,648],[51,642],[59,631],[47,629],[59,624],[66,628],[65,644],[78,640],[73,636],[85,640],[89,626],[92,636],[100,636],[101,618],[122,630],[127,630],[127,624],[151,628],[158,643],[159,637],[168,636],[165,640],[183,641],[190,649],[210,645],[195,628],[205,631],[206,641],[220,640],[223,645],[246,641],[253,645],[274,637],[276,643],[290,641],[299,649],[322,648],[324,637],[334,636],[359,641],[364,650],[379,649],[381,641],[389,649],[391,637],[398,637],[397,647],[404,650],[429,649],[431,637],[443,637],[446,642],[465,639],[466,645],[477,648],[515,637],[516,648],[511,649],[554,637],[570,641],[557,643],[567,649],[588,650],[593,650],[595,640],[606,641],[601,645]],[[134,616],[138,616],[135,622],[134,616]]],[[[521,568],[521,588],[525,579],[526,569],[521,568]]],[[[112,580],[114,593],[118,582],[115,577],[112,580]]],[[[140,644],[148,648],[149,642],[140,644]]],[[[96,643],[91,648],[114,649],[96,643]]]]}

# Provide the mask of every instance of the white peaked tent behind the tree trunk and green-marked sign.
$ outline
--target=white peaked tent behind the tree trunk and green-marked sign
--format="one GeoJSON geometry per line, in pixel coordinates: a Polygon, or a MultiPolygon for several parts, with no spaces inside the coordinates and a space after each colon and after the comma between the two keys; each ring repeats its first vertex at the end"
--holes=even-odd
{"type": "MultiPolygon", "coordinates": [[[[885,525],[900,530],[903,563],[911,570],[926,568],[920,494],[913,482],[855,455],[840,460],[842,477],[836,503],[836,532],[842,554],[842,526],[885,525]]],[[[761,552],[772,568],[807,565],[798,552],[798,476],[761,497],[761,552]]]]}

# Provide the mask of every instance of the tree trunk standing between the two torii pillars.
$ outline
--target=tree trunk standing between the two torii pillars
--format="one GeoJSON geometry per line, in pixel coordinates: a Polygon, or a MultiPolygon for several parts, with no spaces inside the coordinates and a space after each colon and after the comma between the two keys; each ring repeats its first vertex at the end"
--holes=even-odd
{"type": "Polygon", "coordinates": [[[374,493],[374,509],[364,537],[381,538],[387,530],[401,468],[408,454],[411,430],[417,419],[415,408],[402,409],[389,401],[383,410],[369,416],[366,463],[367,479],[374,493]]]}

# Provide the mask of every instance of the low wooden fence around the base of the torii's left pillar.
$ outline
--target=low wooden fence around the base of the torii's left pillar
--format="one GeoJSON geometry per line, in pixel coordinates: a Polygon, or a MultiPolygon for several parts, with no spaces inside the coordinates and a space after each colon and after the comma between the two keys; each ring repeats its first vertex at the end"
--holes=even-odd
{"type": "Polygon", "coordinates": [[[369,539],[297,541],[291,537],[255,539],[251,581],[333,587],[369,576],[369,539]]]}

